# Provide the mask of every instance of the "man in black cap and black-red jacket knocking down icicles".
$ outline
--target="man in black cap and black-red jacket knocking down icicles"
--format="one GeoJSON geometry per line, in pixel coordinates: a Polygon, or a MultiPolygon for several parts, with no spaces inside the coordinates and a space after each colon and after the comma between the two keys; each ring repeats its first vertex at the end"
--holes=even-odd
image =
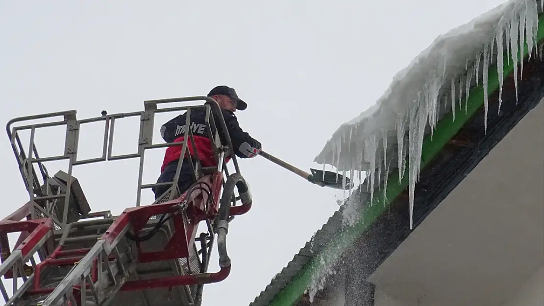
{"type": "MultiPolygon", "coordinates": [[[[221,113],[225,118],[228,134],[231,136],[232,146],[234,147],[234,154],[240,158],[252,158],[256,157],[261,152],[261,143],[251,138],[251,136],[244,132],[238,124],[238,119],[234,115],[236,110],[244,110],[248,107],[242,99],[238,97],[236,91],[228,86],[217,86],[208,93],[208,97],[212,97],[217,101],[219,107],[221,107],[221,113]]],[[[222,126],[215,117],[215,126],[218,128],[218,132],[223,145],[227,144],[227,141],[222,133],[222,126]]],[[[160,135],[162,135],[164,141],[168,143],[182,142],[185,134],[185,124],[187,119],[187,113],[173,118],[172,120],[163,124],[160,128],[160,135]]],[[[214,167],[217,166],[215,161],[212,142],[209,139],[208,131],[206,129],[206,110],[203,108],[191,109],[190,126],[193,138],[195,141],[196,155],[200,160],[202,167],[214,167]]],[[[157,183],[167,183],[174,180],[176,175],[176,168],[180,159],[181,150],[183,146],[172,146],[166,149],[163,159],[163,165],[160,168],[160,176],[157,179],[157,183]]],[[[191,145],[190,140],[187,143],[187,151],[191,155],[191,159],[195,160],[195,152],[191,145]]],[[[188,158],[184,158],[180,171],[180,178],[178,179],[178,188],[180,189],[180,195],[186,192],[191,185],[195,183],[193,173],[191,172],[191,165],[188,158]]],[[[159,198],[170,188],[169,185],[157,186],[153,188],[155,193],[155,199],[159,198]]]]}

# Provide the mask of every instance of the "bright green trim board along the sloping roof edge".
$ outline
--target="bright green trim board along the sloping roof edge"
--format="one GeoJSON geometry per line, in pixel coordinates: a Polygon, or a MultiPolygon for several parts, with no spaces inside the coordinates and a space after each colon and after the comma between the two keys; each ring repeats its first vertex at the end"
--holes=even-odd
{"type": "MultiPolygon", "coordinates": [[[[544,38],[544,14],[539,15],[539,27],[537,30],[537,42],[541,42],[544,38]]],[[[528,46],[524,42],[523,58],[527,57],[528,46]]],[[[519,54],[520,51],[518,51],[519,54]]],[[[514,63],[504,57],[504,77],[510,76],[514,71],[514,63]]],[[[488,73],[488,88],[487,91],[491,95],[499,87],[499,75],[497,65],[492,65],[488,73]]],[[[435,132],[432,135],[426,135],[423,140],[421,168],[423,169],[435,155],[442,150],[446,143],[463,127],[463,125],[484,105],[484,87],[483,84],[476,86],[470,90],[467,109],[458,108],[455,111],[455,121],[453,120],[452,112],[448,113],[441,121],[436,124],[435,132]]],[[[406,167],[405,175],[399,182],[399,175],[394,171],[388,178],[387,194],[384,197],[382,192],[376,192],[373,200],[373,205],[366,205],[367,209],[362,218],[353,226],[347,227],[343,232],[339,233],[337,239],[332,239],[322,252],[314,256],[311,261],[306,264],[292,279],[289,285],[285,286],[277,293],[268,306],[293,306],[300,297],[304,294],[308,285],[312,282],[312,278],[319,271],[320,267],[325,263],[335,262],[372,223],[384,213],[388,205],[397,198],[397,196],[406,189],[408,185],[409,169],[406,167]],[[379,195],[379,196],[378,196],[379,195]]]]}

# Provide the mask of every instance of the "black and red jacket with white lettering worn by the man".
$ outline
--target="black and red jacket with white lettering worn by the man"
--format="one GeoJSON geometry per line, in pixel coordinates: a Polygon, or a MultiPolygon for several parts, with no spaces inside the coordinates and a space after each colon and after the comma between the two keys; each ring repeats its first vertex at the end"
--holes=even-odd
{"type": "MultiPolygon", "coordinates": [[[[254,154],[251,154],[251,152],[247,152],[247,148],[249,147],[254,153],[258,153],[258,151],[261,149],[261,143],[251,138],[248,133],[244,132],[244,130],[240,128],[238,124],[238,118],[236,118],[232,111],[226,109],[221,109],[221,111],[223,117],[225,118],[228,133],[231,136],[234,153],[240,158],[254,157],[254,154]]],[[[168,143],[183,141],[183,136],[185,134],[186,118],[187,113],[184,113],[163,124],[163,126],[160,128],[160,135],[162,135],[164,141],[168,143]]],[[[224,133],[222,132],[222,124],[218,120],[217,115],[214,115],[214,119],[215,126],[217,127],[219,132],[221,143],[223,145],[227,145],[224,133]]],[[[205,109],[191,109],[190,126],[191,132],[193,132],[196,153],[198,155],[201,165],[203,167],[217,166],[217,161],[215,160],[215,156],[213,154],[212,143],[208,135],[208,129],[206,128],[205,109]]],[[[166,165],[180,158],[182,147],[183,146],[172,146],[166,148],[163,165],[160,168],[161,172],[164,171],[166,165]]],[[[189,151],[189,154],[194,157],[195,152],[190,141],[188,141],[187,143],[187,149],[189,151]]]]}

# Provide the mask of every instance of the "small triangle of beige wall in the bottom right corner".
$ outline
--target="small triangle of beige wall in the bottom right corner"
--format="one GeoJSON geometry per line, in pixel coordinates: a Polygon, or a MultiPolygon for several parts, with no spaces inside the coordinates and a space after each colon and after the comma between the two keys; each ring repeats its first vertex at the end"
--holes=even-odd
{"type": "Polygon", "coordinates": [[[541,305],[544,305],[544,265],[503,304],[503,306],[541,305]]]}

